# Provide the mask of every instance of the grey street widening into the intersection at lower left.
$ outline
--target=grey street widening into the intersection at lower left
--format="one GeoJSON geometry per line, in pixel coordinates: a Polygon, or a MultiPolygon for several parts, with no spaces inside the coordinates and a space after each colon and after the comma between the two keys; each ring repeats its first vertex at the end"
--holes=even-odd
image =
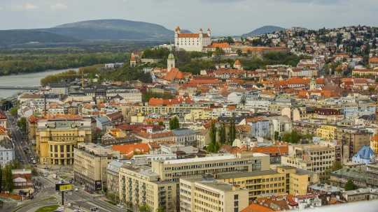
{"type": "MultiPolygon", "coordinates": [[[[7,126],[8,131],[11,132],[13,139],[13,145],[15,147],[15,160],[22,162],[24,168],[28,168],[32,164],[31,157],[36,160],[36,155],[34,155],[34,149],[31,144],[26,142],[25,137],[22,132],[17,128],[17,121],[13,116],[8,115],[7,126]],[[24,150],[27,149],[27,153],[24,150]]],[[[58,179],[53,179],[52,175],[57,174],[57,176],[67,177],[64,183],[68,183],[73,176],[73,169],[71,166],[57,166],[49,165],[51,169],[45,169],[45,165],[38,165],[38,160],[36,160],[36,169],[41,176],[34,177],[35,181],[41,183],[41,188],[36,189],[36,195],[34,199],[25,199],[22,202],[5,202],[3,208],[0,211],[13,211],[21,206],[25,206],[20,209],[20,212],[30,212],[36,211],[41,206],[47,206],[52,204],[62,204],[62,195],[55,191],[55,184],[58,183],[58,179]],[[44,173],[48,173],[48,176],[43,176],[44,173]],[[56,197],[57,199],[47,199],[48,197],[56,197]],[[42,202],[41,202],[42,201],[42,202]],[[26,206],[27,205],[27,206],[26,206]]],[[[79,190],[74,191],[76,188],[73,185],[73,191],[64,193],[64,205],[68,209],[84,209],[85,211],[90,211],[90,208],[98,207],[100,211],[126,211],[126,209],[120,209],[118,206],[113,206],[107,202],[104,202],[104,195],[90,194],[85,190],[82,190],[81,186],[78,185],[79,190]],[[69,206],[70,205],[70,206],[69,206]]]]}

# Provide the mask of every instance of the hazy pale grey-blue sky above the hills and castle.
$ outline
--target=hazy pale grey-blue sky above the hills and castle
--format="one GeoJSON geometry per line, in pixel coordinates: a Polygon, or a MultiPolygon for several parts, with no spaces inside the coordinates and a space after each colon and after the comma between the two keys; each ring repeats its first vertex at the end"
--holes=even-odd
{"type": "Polygon", "coordinates": [[[241,35],[262,27],[378,26],[377,0],[0,0],[0,29],[124,19],[241,35]]]}

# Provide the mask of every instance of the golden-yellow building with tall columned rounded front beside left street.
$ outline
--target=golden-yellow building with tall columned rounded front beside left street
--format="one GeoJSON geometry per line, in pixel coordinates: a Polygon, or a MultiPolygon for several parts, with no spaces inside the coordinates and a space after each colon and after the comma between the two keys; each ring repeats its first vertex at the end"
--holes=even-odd
{"type": "Polygon", "coordinates": [[[91,119],[40,119],[36,126],[36,154],[41,164],[73,164],[73,148],[92,141],[91,119]]]}

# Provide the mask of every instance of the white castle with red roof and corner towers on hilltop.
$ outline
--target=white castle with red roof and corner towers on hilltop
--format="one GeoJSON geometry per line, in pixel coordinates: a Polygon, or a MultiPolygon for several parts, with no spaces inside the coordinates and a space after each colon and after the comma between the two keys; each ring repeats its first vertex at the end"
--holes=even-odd
{"type": "Polygon", "coordinates": [[[186,51],[202,52],[204,46],[211,45],[211,32],[203,33],[202,29],[198,33],[181,33],[180,27],[174,30],[174,45],[178,49],[186,51]]]}

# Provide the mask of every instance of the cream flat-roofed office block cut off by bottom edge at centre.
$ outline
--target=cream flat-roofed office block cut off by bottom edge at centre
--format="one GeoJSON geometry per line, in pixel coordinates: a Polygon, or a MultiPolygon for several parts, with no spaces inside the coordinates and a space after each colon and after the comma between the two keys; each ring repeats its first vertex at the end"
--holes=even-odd
{"type": "Polygon", "coordinates": [[[234,211],[248,206],[248,190],[204,174],[180,179],[180,211],[234,211]]]}

